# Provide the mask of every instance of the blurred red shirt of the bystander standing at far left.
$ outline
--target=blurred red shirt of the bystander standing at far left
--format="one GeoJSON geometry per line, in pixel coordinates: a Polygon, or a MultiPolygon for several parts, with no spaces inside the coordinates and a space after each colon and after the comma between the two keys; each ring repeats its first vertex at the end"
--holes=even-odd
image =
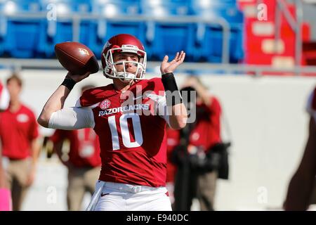
{"type": "Polygon", "coordinates": [[[39,136],[34,113],[25,105],[12,113],[0,113],[0,137],[2,153],[11,159],[24,159],[31,155],[32,140],[39,136]]]}

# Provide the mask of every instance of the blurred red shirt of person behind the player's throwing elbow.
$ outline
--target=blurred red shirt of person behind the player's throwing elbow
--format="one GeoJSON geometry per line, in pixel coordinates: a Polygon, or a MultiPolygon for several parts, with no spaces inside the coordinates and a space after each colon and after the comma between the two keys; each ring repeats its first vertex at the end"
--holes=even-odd
{"type": "Polygon", "coordinates": [[[98,167],[101,165],[99,139],[91,128],[78,130],[56,129],[50,140],[53,143],[70,141],[69,162],[75,167],[98,167]]]}

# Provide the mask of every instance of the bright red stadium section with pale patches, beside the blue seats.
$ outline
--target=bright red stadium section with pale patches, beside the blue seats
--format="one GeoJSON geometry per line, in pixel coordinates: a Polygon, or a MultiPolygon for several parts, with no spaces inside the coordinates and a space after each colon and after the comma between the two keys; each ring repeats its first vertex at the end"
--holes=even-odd
{"type": "MultiPolygon", "coordinates": [[[[279,41],[276,41],[275,10],[277,1],[262,0],[260,3],[265,5],[259,5],[256,0],[238,1],[238,6],[245,16],[244,63],[272,65],[275,68],[293,68],[296,39],[294,30],[291,29],[284,13],[280,11],[279,41]],[[266,11],[264,12],[265,6],[266,11]]],[[[286,6],[296,19],[296,6],[294,4],[286,4],[286,6]]],[[[310,25],[308,23],[301,24],[301,38],[303,42],[301,65],[316,65],[316,43],[310,44],[310,25]]]]}

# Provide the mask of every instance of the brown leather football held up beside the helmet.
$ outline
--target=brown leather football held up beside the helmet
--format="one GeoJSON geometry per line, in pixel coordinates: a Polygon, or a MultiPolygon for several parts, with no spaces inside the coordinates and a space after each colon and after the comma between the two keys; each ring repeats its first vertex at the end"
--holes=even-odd
{"type": "Polygon", "coordinates": [[[60,64],[73,75],[96,73],[99,70],[98,60],[93,52],[79,42],[62,42],[55,45],[55,54],[60,64]]]}

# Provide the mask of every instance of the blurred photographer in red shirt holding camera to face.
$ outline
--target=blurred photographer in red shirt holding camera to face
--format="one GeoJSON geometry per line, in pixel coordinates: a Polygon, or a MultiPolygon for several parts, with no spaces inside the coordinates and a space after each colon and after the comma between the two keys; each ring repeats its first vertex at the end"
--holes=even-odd
{"type": "Polygon", "coordinates": [[[197,198],[200,210],[209,211],[213,210],[218,175],[228,179],[228,146],[220,139],[221,107],[197,77],[188,77],[182,91],[196,91],[196,102],[188,99],[187,107],[196,107],[197,115],[194,123],[179,131],[179,145],[173,150],[178,166],[175,210],[190,210],[192,199],[197,198]]]}

